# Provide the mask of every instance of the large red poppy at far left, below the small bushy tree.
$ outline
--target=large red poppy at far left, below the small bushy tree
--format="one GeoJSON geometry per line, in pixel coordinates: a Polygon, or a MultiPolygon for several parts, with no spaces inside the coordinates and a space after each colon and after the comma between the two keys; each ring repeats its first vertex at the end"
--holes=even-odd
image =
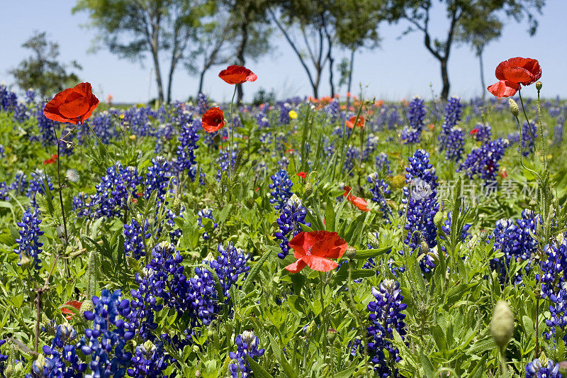
{"type": "Polygon", "coordinates": [[[81,83],[56,94],[45,104],[43,114],[52,121],[77,125],[89,118],[96,106],[99,99],[94,96],[91,84],[81,83]]]}

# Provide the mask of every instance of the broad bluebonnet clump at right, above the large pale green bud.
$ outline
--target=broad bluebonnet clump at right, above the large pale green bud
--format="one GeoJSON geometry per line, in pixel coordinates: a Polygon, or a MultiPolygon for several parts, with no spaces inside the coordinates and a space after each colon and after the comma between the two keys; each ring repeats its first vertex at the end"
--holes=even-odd
{"type": "MultiPolygon", "coordinates": [[[[504,256],[493,259],[490,267],[500,272],[501,282],[508,282],[512,278],[507,277],[510,260],[530,260],[532,254],[537,252],[538,242],[532,237],[537,234],[537,223],[541,223],[541,217],[527,209],[522,211],[522,218],[496,221],[490,240],[494,238],[494,249],[503,252],[504,256]]],[[[529,272],[530,266],[527,265],[525,269],[529,272]]],[[[521,273],[513,278],[515,283],[522,281],[521,273]]]]}

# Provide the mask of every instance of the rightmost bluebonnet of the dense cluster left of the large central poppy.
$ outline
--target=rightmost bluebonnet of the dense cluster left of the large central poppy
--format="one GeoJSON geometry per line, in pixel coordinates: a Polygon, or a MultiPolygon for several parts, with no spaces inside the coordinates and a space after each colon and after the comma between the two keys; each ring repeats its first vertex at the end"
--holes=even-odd
{"type": "Polygon", "coordinates": [[[220,280],[220,286],[223,287],[223,294],[225,298],[230,299],[230,287],[237,282],[241,274],[247,277],[250,267],[247,262],[250,259],[249,255],[245,255],[242,250],[232,245],[232,242],[227,243],[226,248],[218,245],[218,256],[216,259],[208,258],[203,263],[207,263],[215,269],[215,273],[220,280]]]}

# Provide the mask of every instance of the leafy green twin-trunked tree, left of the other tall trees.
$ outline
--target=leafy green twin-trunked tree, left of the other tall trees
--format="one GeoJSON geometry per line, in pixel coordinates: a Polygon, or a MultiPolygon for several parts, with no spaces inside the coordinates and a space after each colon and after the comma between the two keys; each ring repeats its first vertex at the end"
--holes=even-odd
{"type": "Polygon", "coordinates": [[[79,0],[73,12],[87,11],[91,26],[113,54],[132,60],[150,52],[157,96],[164,101],[160,52],[170,52],[167,101],[171,101],[174,71],[201,17],[214,11],[210,0],[79,0]]]}

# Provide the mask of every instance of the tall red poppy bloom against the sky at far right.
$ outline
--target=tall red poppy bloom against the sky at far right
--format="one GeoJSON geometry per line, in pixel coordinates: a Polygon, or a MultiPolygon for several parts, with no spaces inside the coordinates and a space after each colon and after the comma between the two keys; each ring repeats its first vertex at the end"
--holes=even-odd
{"type": "Polygon", "coordinates": [[[537,82],[541,77],[541,67],[535,59],[512,57],[500,62],[495,74],[496,79],[500,81],[488,87],[488,91],[498,97],[510,97],[520,89],[520,84],[529,85],[537,82]]]}

